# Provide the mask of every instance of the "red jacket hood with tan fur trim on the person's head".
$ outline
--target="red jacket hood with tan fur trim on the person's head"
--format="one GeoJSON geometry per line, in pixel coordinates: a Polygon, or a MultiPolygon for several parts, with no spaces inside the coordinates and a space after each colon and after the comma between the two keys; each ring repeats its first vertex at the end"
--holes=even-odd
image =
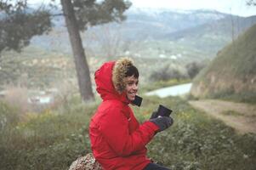
{"type": "Polygon", "coordinates": [[[96,90],[103,100],[121,99],[128,102],[124,93],[126,86],[124,77],[130,65],[134,65],[131,59],[121,58],[117,61],[104,63],[95,72],[96,90]]]}

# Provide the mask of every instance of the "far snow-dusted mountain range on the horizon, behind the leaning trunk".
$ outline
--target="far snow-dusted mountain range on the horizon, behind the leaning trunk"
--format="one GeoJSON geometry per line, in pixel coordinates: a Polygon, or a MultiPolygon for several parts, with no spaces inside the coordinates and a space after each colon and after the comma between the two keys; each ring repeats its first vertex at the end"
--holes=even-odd
{"type": "MultiPolygon", "coordinates": [[[[57,10],[55,13],[60,14],[60,11],[57,10]]],[[[126,15],[127,20],[120,24],[110,23],[94,26],[88,31],[82,32],[84,46],[88,44],[90,46],[93,43],[94,49],[95,47],[99,48],[100,43],[102,43],[99,39],[104,38],[106,34],[115,34],[122,42],[158,41],[158,37],[170,32],[201,26],[228,16],[228,14],[210,10],[181,11],[153,8],[130,8],[126,15]]],[[[31,44],[49,50],[61,49],[62,51],[65,49],[65,52],[70,52],[71,48],[63,16],[54,17],[53,22],[53,31],[48,35],[33,37],[31,44]]]]}

